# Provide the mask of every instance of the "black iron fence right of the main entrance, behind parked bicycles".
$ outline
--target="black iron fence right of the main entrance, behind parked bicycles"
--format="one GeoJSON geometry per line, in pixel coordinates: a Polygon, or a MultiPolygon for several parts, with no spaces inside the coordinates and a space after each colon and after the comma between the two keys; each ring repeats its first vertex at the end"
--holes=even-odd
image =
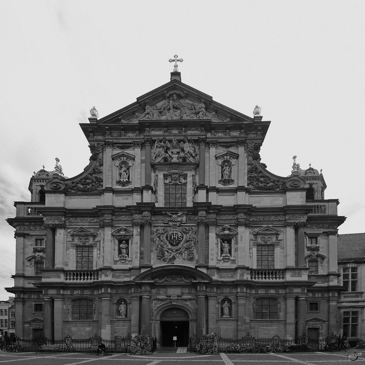
{"type": "MultiPolygon", "coordinates": [[[[247,347],[249,351],[260,348],[264,350],[266,346],[270,346],[272,351],[333,351],[341,345],[341,338],[334,333],[322,339],[313,339],[307,335],[301,335],[295,339],[284,340],[278,335],[272,338],[255,338],[250,334],[239,339],[227,339],[216,337],[216,344],[218,345],[219,352],[226,352],[227,347],[231,345],[243,345],[247,347]]],[[[197,335],[190,337],[190,352],[197,352],[199,350],[200,338],[197,335]]]]}

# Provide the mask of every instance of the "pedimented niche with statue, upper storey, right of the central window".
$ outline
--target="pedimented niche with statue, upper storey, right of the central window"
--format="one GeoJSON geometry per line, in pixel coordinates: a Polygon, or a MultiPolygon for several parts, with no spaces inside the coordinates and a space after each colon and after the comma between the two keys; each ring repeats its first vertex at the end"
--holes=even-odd
{"type": "Polygon", "coordinates": [[[237,185],[237,176],[238,176],[238,153],[232,151],[223,151],[217,153],[215,155],[215,161],[217,164],[216,168],[216,181],[218,184],[227,186],[227,185],[237,185]]]}

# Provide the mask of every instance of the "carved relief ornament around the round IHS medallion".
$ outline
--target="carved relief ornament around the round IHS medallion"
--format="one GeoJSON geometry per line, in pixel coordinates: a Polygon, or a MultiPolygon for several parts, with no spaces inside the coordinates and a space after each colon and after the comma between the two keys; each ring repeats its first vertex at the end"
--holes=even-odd
{"type": "Polygon", "coordinates": [[[157,227],[153,240],[157,258],[167,264],[174,264],[177,258],[188,261],[195,259],[194,249],[197,239],[192,227],[157,227]]]}

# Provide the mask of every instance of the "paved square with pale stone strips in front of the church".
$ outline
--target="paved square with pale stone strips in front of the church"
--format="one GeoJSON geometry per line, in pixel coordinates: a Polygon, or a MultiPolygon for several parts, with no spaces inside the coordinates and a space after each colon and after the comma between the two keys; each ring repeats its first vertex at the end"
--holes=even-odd
{"type": "MultiPolygon", "coordinates": [[[[43,353],[34,352],[9,353],[0,352],[0,364],[9,365],[239,365],[244,364],[263,364],[263,365],[339,365],[349,362],[347,354],[351,351],[340,351],[336,353],[326,352],[306,352],[306,353],[280,353],[280,354],[225,354],[219,355],[199,355],[195,353],[176,354],[155,352],[146,356],[131,356],[129,354],[114,354],[109,356],[95,356],[95,354],[85,353],[43,353]],[[203,362],[203,364],[199,364],[203,362]]],[[[360,355],[356,360],[360,364],[365,364],[364,355],[360,355]]],[[[353,364],[353,362],[351,362],[353,364]]]]}

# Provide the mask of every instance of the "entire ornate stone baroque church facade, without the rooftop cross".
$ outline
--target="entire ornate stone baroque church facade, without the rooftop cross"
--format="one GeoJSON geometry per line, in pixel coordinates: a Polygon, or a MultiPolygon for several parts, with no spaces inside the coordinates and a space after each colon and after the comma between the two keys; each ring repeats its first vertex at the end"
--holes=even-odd
{"type": "Polygon", "coordinates": [[[59,160],[15,202],[16,335],[240,338],[339,334],[338,200],[295,160],[261,163],[270,122],[181,82],[80,124],[89,165],[59,160]]]}

